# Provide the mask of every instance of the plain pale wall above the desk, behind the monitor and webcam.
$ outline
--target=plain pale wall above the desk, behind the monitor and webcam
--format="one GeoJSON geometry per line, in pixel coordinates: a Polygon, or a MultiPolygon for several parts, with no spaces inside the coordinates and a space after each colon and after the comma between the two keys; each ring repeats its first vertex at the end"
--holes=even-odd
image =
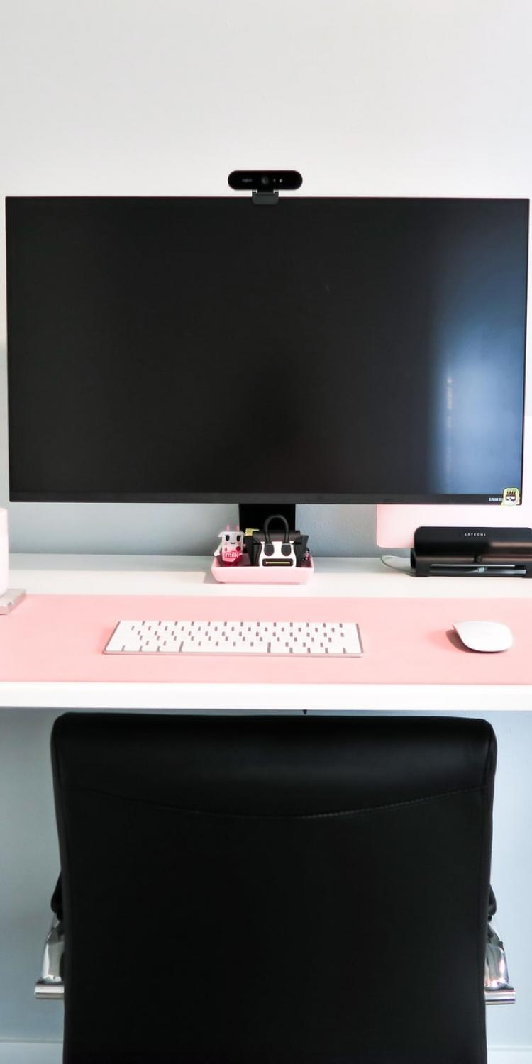
{"type": "MultiPolygon", "coordinates": [[[[1,194],[223,195],[230,170],[267,165],[300,169],[306,195],[530,195],[530,0],[0,0],[0,12],[1,194]]],[[[0,353],[5,504],[3,303],[0,353]]],[[[12,546],[201,553],[234,515],[17,503],[12,546]]],[[[371,506],[299,517],[316,553],[375,552],[371,506]]]]}

